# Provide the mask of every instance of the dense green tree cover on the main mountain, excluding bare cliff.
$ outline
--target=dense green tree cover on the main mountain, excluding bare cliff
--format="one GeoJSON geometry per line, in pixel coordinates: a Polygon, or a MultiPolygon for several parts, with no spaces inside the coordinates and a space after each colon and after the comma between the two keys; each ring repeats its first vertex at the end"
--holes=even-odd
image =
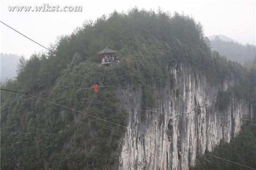
{"type": "MultiPolygon", "coordinates": [[[[61,97],[87,98],[93,91],[79,89],[100,84],[125,88],[143,87],[143,106],[153,107],[153,83],[165,86],[175,65],[203,70],[214,85],[234,79],[230,94],[251,99],[255,94],[255,68],[249,71],[210,51],[200,23],[185,14],[133,8],[114,11],[96,21],[86,21],[70,35],[52,45],[52,54],[20,59],[16,80],[2,88],[61,97]],[[119,65],[99,67],[100,51],[108,45],[117,50],[119,65]],[[61,57],[60,57],[61,56],[61,57]]],[[[115,88],[101,90],[94,100],[118,102],[115,88]]],[[[20,97],[1,91],[4,105],[20,97]]],[[[51,99],[84,113],[125,125],[124,110],[86,102],[51,99]],[[109,114],[111,113],[111,114],[109,114]]],[[[1,169],[104,169],[113,164],[110,154],[118,147],[125,129],[90,119],[31,96],[23,96],[1,108],[1,169]]]]}

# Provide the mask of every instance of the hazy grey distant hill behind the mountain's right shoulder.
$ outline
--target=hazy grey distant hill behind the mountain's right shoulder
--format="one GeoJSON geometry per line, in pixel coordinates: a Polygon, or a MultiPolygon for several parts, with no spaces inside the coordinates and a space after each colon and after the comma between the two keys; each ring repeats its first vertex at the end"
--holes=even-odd
{"type": "Polygon", "coordinates": [[[227,59],[240,63],[253,61],[253,58],[256,56],[255,45],[241,45],[226,36],[216,36],[210,41],[210,46],[212,51],[218,51],[219,54],[227,59]]]}

